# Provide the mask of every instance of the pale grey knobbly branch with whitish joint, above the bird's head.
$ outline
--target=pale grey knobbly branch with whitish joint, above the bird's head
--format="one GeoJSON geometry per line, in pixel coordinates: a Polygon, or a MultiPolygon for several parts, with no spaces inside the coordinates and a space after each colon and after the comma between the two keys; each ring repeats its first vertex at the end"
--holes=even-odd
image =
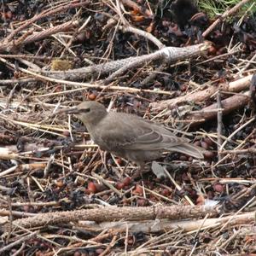
{"type": "Polygon", "coordinates": [[[109,61],[107,63],[93,65],[89,67],[80,67],[77,69],[71,69],[66,71],[41,71],[45,76],[54,79],[64,80],[82,80],[88,76],[98,76],[107,73],[114,73],[111,79],[114,79],[117,75],[125,72],[124,67],[134,68],[145,64],[147,61],[155,60],[167,60],[177,61],[190,58],[195,55],[204,54],[209,49],[210,44],[208,42],[204,44],[195,44],[188,47],[166,47],[155,51],[149,55],[142,55],[138,57],[130,57],[118,61],[109,61]]]}

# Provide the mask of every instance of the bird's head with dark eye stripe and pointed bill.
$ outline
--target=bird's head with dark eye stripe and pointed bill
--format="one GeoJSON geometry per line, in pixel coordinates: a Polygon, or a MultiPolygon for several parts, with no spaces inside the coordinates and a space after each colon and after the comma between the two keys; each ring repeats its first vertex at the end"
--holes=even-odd
{"type": "Polygon", "coordinates": [[[68,109],[67,113],[74,113],[84,125],[96,124],[108,114],[107,109],[99,102],[82,102],[68,109]]]}

